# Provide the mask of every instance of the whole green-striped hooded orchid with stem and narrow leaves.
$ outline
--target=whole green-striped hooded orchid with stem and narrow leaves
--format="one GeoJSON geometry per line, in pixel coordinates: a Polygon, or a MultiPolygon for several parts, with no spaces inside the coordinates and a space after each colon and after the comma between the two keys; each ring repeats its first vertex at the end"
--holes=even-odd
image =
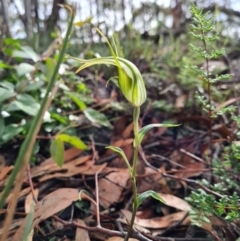
{"type": "MultiPolygon", "coordinates": [[[[100,32],[100,30],[97,30],[99,34],[105,39],[107,42],[112,56],[110,57],[99,57],[95,59],[90,60],[84,60],[79,58],[73,58],[72,59],[80,62],[83,64],[81,67],[78,68],[77,72],[92,66],[96,64],[105,64],[105,65],[114,65],[118,69],[118,86],[124,97],[127,99],[127,101],[133,106],[133,129],[134,129],[134,156],[133,156],[133,162],[132,165],[130,164],[130,161],[127,159],[125,153],[121,148],[109,146],[107,148],[113,150],[114,152],[121,155],[128,167],[128,170],[130,172],[130,177],[132,180],[132,189],[133,189],[133,210],[132,210],[132,218],[130,220],[129,229],[127,232],[127,235],[125,236],[125,241],[127,241],[132,233],[134,219],[136,216],[137,208],[141,205],[143,200],[145,200],[147,197],[153,197],[161,202],[163,200],[161,197],[155,193],[154,191],[146,191],[144,193],[141,193],[140,195],[137,194],[137,185],[136,185],[136,167],[137,167],[137,160],[138,160],[138,151],[141,145],[141,141],[144,137],[144,135],[154,127],[171,127],[174,125],[171,124],[151,124],[148,126],[143,127],[139,130],[139,115],[140,115],[140,106],[145,102],[146,100],[146,88],[144,85],[144,81],[142,78],[141,73],[139,72],[138,68],[130,61],[121,58],[118,56],[118,50],[117,48],[114,51],[114,48],[110,44],[110,42],[106,39],[106,37],[100,32]]],[[[115,42],[113,42],[114,46],[115,42]]]]}

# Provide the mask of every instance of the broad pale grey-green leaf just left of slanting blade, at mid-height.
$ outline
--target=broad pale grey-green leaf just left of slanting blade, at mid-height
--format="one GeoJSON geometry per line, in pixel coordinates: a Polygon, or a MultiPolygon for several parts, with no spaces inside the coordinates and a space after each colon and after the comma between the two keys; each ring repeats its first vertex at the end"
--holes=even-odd
{"type": "Polygon", "coordinates": [[[21,110],[28,115],[35,116],[40,108],[40,104],[28,94],[17,95],[14,100],[7,108],[6,111],[13,112],[21,110]]]}

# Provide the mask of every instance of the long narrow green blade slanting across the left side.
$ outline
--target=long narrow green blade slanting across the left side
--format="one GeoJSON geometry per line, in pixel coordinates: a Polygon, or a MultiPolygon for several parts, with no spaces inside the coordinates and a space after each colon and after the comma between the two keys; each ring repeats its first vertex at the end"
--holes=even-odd
{"type": "Polygon", "coordinates": [[[19,155],[18,155],[18,158],[17,158],[16,163],[15,163],[15,167],[14,167],[10,177],[8,178],[7,185],[5,186],[5,188],[4,188],[4,190],[3,190],[2,194],[1,194],[0,209],[3,208],[3,206],[4,206],[5,199],[9,195],[11,187],[12,187],[12,185],[13,185],[15,179],[16,179],[16,176],[17,176],[19,170],[21,169],[21,166],[22,166],[22,164],[24,162],[24,158],[26,156],[26,153],[27,152],[31,152],[32,153],[32,150],[29,150],[29,146],[30,146],[30,143],[32,142],[32,138],[34,136],[35,128],[38,126],[38,123],[42,119],[41,117],[42,117],[42,115],[43,115],[43,113],[45,111],[45,106],[47,104],[49,94],[52,91],[53,85],[54,85],[56,77],[58,75],[59,67],[60,67],[60,65],[61,65],[61,63],[63,61],[63,57],[64,57],[65,50],[66,50],[66,47],[67,47],[68,39],[69,39],[69,36],[71,35],[71,31],[72,31],[74,16],[75,16],[75,9],[72,10],[71,19],[70,19],[70,22],[68,24],[66,37],[64,39],[64,42],[63,42],[63,45],[62,45],[62,49],[61,49],[61,51],[59,53],[57,64],[56,64],[56,66],[54,68],[53,74],[52,74],[51,79],[50,79],[50,81],[48,83],[46,94],[44,96],[44,99],[42,100],[42,103],[40,105],[40,109],[38,111],[38,114],[33,119],[33,122],[32,122],[32,124],[30,126],[30,129],[29,129],[29,132],[28,132],[28,134],[26,136],[26,139],[23,142],[23,144],[21,145],[21,148],[20,148],[20,151],[19,151],[19,155]]]}

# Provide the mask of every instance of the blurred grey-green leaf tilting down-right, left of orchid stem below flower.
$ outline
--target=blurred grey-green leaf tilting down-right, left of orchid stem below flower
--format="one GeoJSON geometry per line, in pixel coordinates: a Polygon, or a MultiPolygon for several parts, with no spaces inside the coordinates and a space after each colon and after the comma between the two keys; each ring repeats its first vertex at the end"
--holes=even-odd
{"type": "Polygon", "coordinates": [[[88,118],[88,120],[90,120],[93,124],[102,125],[110,128],[112,127],[107,117],[97,110],[94,110],[92,108],[86,108],[83,113],[85,114],[86,118],[88,118]]]}

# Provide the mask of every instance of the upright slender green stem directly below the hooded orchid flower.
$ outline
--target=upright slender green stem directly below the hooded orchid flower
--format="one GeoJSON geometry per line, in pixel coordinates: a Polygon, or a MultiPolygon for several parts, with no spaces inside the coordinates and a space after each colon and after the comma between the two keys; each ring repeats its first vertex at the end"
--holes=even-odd
{"type": "Polygon", "coordinates": [[[129,224],[129,229],[128,229],[126,237],[124,238],[124,241],[128,241],[128,239],[131,236],[135,216],[137,213],[136,171],[137,171],[137,160],[138,160],[138,150],[139,150],[139,143],[137,140],[137,135],[138,135],[138,130],[139,130],[139,125],[138,125],[139,115],[140,115],[140,107],[134,107],[134,112],[133,112],[134,154],[133,154],[133,165],[132,165],[133,211],[132,211],[131,221],[129,224]]]}

